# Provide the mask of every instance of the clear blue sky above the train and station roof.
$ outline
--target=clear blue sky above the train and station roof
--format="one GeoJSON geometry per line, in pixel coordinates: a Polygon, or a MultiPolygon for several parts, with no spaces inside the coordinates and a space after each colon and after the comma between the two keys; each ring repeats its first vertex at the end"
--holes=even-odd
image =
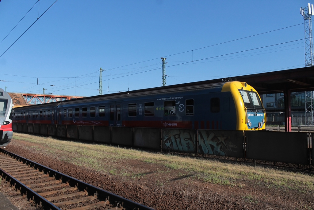
{"type": "Polygon", "coordinates": [[[0,87],[93,96],[100,68],[103,94],[159,87],[161,57],[166,85],[301,68],[307,3],[1,0],[0,87]]]}

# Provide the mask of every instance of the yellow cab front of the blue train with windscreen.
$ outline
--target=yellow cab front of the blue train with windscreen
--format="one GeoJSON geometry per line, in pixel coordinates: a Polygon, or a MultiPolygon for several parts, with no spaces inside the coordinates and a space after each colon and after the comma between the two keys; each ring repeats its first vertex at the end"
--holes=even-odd
{"type": "Polygon", "coordinates": [[[265,129],[266,112],[261,98],[246,82],[226,82],[223,92],[230,92],[236,109],[236,130],[265,129]]]}

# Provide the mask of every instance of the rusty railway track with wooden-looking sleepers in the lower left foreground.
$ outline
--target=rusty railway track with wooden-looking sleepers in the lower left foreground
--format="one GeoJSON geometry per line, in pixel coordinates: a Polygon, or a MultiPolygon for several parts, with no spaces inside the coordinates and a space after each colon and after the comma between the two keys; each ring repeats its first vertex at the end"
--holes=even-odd
{"type": "Polygon", "coordinates": [[[152,210],[3,149],[0,175],[28,198],[30,209],[152,210]]]}

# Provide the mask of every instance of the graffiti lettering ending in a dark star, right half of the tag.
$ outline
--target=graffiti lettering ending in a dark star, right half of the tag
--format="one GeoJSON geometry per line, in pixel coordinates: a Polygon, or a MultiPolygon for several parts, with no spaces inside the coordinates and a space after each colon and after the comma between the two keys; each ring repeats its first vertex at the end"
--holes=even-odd
{"type": "Polygon", "coordinates": [[[225,136],[222,132],[217,135],[210,130],[200,130],[198,135],[198,152],[202,154],[226,156],[230,150],[229,146],[236,146],[228,142],[229,136],[225,136]]]}

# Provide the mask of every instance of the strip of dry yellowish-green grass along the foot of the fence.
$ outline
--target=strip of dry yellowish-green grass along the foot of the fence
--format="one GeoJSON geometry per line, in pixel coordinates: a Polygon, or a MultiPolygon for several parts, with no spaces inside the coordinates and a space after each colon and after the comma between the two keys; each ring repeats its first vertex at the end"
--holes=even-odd
{"type": "MultiPolygon", "coordinates": [[[[29,134],[14,133],[14,139],[38,145],[31,146],[27,148],[28,150],[53,156],[61,161],[66,161],[100,173],[111,173],[113,175],[119,173],[122,176],[134,176],[132,173],[117,170],[117,166],[124,160],[138,160],[164,165],[171,169],[180,169],[181,171],[185,171],[186,174],[189,174],[189,176],[214,184],[240,186],[242,180],[254,180],[268,187],[287,187],[301,192],[314,190],[313,175],[304,173],[223,163],[218,160],[204,160],[144,152],[108,145],[83,144],[50,137],[36,137],[29,134]],[[106,162],[110,164],[106,164],[106,162]]],[[[11,142],[11,144],[16,143],[11,142]]],[[[158,190],[161,190],[160,186],[158,190]]]]}

